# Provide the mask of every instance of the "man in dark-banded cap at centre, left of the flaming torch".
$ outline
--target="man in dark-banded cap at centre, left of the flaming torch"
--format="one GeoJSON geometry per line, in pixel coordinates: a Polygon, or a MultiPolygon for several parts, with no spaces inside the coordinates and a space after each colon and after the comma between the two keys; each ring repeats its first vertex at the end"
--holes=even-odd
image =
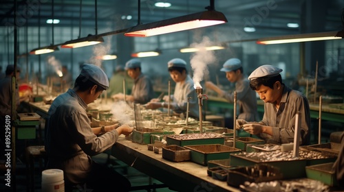
{"type": "MultiPolygon", "coordinates": [[[[175,90],[171,95],[170,108],[175,114],[184,114],[186,117],[187,102],[189,99],[189,117],[200,119],[200,112],[198,110],[197,93],[193,87],[193,80],[188,75],[186,70],[186,62],[180,58],[175,58],[167,63],[169,73],[172,80],[175,82],[175,90]]],[[[152,99],[147,104],[147,108],[168,108],[169,97],[164,97],[164,102],[159,102],[157,99],[152,99]]]]}

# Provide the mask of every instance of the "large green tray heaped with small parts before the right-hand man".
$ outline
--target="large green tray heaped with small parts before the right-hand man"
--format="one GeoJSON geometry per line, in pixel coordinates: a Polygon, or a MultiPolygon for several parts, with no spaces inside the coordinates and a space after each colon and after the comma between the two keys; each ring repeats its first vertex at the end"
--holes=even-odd
{"type": "Polygon", "coordinates": [[[334,156],[308,150],[300,150],[299,157],[294,157],[293,151],[281,152],[280,150],[230,154],[230,165],[250,166],[266,163],[278,167],[284,179],[304,178],[306,176],[305,166],[330,163],[334,160],[336,160],[334,156]]]}

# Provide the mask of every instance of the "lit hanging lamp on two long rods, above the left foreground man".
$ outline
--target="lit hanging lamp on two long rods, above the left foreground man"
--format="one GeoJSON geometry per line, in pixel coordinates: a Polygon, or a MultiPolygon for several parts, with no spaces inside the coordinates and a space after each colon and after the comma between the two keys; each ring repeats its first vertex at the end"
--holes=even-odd
{"type": "Polygon", "coordinates": [[[94,1],[95,4],[95,13],[96,13],[96,35],[89,34],[87,37],[80,38],[81,34],[81,1],[80,0],[80,22],[79,22],[79,36],[78,39],[75,40],[68,40],[63,45],[62,48],[78,48],[78,47],[85,47],[89,45],[96,45],[98,43],[103,43],[104,39],[101,36],[98,36],[98,28],[97,28],[97,0],[94,1]]]}

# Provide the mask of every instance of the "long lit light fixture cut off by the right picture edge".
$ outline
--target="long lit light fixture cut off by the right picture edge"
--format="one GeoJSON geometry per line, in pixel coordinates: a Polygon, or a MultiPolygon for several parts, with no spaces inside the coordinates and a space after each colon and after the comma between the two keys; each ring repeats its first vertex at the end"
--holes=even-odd
{"type": "Polygon", "coordinates": [[[332,40],[341,39],[344,36],[344,31],[341,32],[322,32],[314,34],[297,34],[288,36],[276,36],[271,38],[259,38],[257,44],[270,45],[281,43],[299,43],[314,40],[332,40]]]}

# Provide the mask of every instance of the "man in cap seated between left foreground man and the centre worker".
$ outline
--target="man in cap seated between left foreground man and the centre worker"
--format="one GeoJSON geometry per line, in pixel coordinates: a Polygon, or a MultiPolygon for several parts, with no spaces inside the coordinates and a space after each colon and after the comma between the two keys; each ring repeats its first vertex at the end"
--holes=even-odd
{"type": "MultiPolygon", "coordinates": [[[[125,70],[127,70],[128,75],[134,80],[131,95],[126,95],[127,101],[147,104],[147,102],[154,98],[155,93],[151,79],[141,72],[141,61],[136,58],[129,60],[125,64],[125,70]]],[[[124,99],[124,94],[118,93],[112,95],[112,98],[124,99]]]]}

